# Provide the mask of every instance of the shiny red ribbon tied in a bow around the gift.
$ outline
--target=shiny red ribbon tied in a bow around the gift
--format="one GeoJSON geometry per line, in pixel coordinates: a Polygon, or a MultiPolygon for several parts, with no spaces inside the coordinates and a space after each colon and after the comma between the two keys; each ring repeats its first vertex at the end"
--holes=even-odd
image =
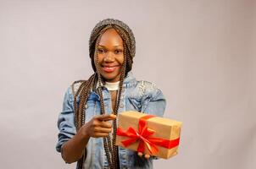
{"type": "Polygon", "coordinates": [[[151,138],[150,136],[155,133],[155,131],[151,128],[147,128],[146,123],[147,119],[154,117],[153,115],[146,115],[144,117],[141,117],[139,119],[139,131],[137,132],[134,128],[128,128],[128,130],[125,132],[122,128],[117,128],[117,135],[129,137],[130,139],[126,139],[124,141],[121,141],[121,143],[127,147],[136,141],[139,141],[139,145],[137,148],[138,152],[144,152],[145,145],[147,146],[147,149],[149,152],[154,155],[156,154],[159,149],[157,148],[157,145],[172,149],[175,146],[179,145],[180,138],[178,139],[161,139],[161,138],[151,138]]]}

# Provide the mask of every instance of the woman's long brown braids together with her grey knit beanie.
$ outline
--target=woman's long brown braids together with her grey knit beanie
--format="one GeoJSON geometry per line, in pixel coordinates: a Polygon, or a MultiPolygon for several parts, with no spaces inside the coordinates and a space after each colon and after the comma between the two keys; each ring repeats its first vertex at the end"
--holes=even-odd
{"type": "MultiPolygon", "coordinates": [[[[100,110],[101,114],[105,114],[105,106],[103,102],[103,92],[102,92],[102,76],[99,73],[99,66],[98,66],[98,58],[97,58],[97,46],[99,44],[99,41],[101,40],[101,36],[106,30],[114,29],[117,31],[117,33],[120,35],[120,37],[123,40],[124,45],[124,63],[122,65],[121,69],[121,76],[120,76],[120,86],[119,91],[117,95],[117,103],[114,107],[114,114],[116,115],[119,111],[119,105],[120,105],[120,96],[123,89],[123,83],[125,76],[128,74],[129,71],[131,71],[132,63],[133,63],[133,57],[135,57],[135,49],[136,49],[136,42],[134,35],[131,31],[131,29],[128,27],[128,25],[125,25],[120,20],[117,19],[103,19],[102,21],[98,22],[97,25],[94,27],[91,33],[91,37],[89,40],[89,54],[91,58],[92,68],[94,71],[94,74],[88,79],[84,81],[76,81],[81,82],[80,87],[75,92],[74,96],[74,109],[75,109],[75,128],[76,131],[81,128],[81,126],[85,123],[86,120],[86,102],[88,99],[88,96],[90,95],[90,91],[93,89],[96,89],[97,87],[97,94],[100,96],[100,110]],[[77,104],[76,100],[77,97],[80,97],[80,101],[77,104]]],[[[74,84],[75,84],[74,83],[74,84]]],[[[73,84],[73,85],[74,85],[73,84]]],[[[107,159],[109,161],[109,166],[111,169],[117,168],[117,153],[118,153],[118,147],[115,144],[115,137],[116,137],[116,120],[114,120],[113,124],[113,139],[111,141],[110,136],[103,138],[103,145],[104,150],[107,155],[107,159]]],[[[83,163],[86,159],[86,150],[84,150],[84,154],[82,155],[81,159],[78,161],[77,165],[79,169],[82,169],[83,163]]]]}

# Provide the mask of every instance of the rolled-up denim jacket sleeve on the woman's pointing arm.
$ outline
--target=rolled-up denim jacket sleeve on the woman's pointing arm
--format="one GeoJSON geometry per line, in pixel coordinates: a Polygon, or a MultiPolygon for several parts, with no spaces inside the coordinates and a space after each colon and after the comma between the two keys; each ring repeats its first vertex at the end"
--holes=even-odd
{"type": "Polygon", "coordinates": [[[76,134],[73,102],[74,98],[71,87],[69,87],[64,95],[62,112],[58,115],[58,143],[56,145],[58,152],[61,152],[62,145],[76,134]]]}

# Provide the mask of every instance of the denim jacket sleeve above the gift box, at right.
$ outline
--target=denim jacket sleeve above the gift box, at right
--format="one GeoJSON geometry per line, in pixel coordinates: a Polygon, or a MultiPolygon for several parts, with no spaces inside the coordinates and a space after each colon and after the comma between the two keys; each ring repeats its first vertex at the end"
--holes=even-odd
{"type": "Polygon", "coordinates": [[[145,94],[142,97],[142,112],[164,116],[166,101],[163,92],[152,83],[145,83],[145,94]]]}

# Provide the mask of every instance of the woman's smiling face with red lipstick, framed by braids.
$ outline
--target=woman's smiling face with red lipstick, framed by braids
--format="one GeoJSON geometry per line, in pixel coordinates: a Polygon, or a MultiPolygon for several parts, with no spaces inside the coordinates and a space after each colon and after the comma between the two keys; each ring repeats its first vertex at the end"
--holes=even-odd
{"type": "MultiPolygon", "coordinates": [[[[98,68],[103,79],[108,82],[120,80],[124,63],[123,40],[114,29],[106,30],[97,46],[98,68]]],[[[94,58],[94,63],[97,63],[94,58]]]]}

